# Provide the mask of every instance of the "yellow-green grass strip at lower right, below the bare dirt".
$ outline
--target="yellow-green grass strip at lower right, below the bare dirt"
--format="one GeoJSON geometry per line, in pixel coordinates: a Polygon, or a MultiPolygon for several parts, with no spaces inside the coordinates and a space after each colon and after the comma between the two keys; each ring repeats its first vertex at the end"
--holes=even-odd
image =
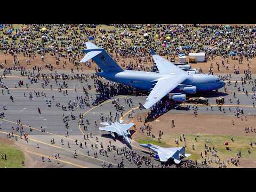
{"type": "MultiPolygon", "coordinates": [[[[175,138],[180,138],[180,135],[163,135],[163,139],[161,143],[158,142],[157,139],[152,139],[150,137],[142,137],[136,139],[139,143],[152,143],[154,145],[162,146],[162,147],[182,147],[184,146],[184,141],[182,139],[182,142],[179,141],[179,145],[175,144],[175,138]]],[[[256,158],[256,147],[253,145],[250,147],[250,142],[254,142],[256,140],[255,137],[233,137],[233,141],[231,141],[230,136],[226,135],[208,135],[203,134],[199,135],[197,138],[197,141],[195,141],[196,135],[194,134],[186,134],[186,153],[191,154],[189,159],[196,160],[201,162],[205,157],[215,159],[211,155],[211,153],[208,153],[207,156],[204,155],[206,144],[208,147],[217,149],[218,156],[221,160],[221,162],[225,161],[227,163],[227,159],[230,159],[231,157],[237,158],[237,153],[239,150],[241,150],[242,158],[240,158],[240,162],[245,161],[246,164],[241,164],[242,167],[255,167],[255,158],[256,158]],[[209,140],[209,142],[206,142],[206,140],[209,140]],[[224,145],[225,142],[228,142],[228,147],[231,150],[227,150],[226,146],[224,145]],[[192,145],[194,145],[194,149],[192,148],[192,145]],[[250,147],[251,154],[248,153],[248,149],[250,147]],[[203,153],[203,158],[201,158],[201,152],[203,153]]],[[[226,164],[227,165],[227,164],[226,164]]],[[[213,163],[211,166],[218,166],[217,164],[213,163]]],[[[235,167],[234,165],[230,164],[227,165],[228,167],[235,167]]]]}

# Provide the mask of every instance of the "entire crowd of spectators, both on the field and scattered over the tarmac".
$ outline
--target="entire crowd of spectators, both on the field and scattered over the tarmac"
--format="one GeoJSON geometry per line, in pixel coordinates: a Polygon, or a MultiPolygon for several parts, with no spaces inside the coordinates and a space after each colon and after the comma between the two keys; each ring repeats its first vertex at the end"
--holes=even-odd
{"type": "MultiPolygon", "coordinates": [[[[178,55],[179,53],[188,54],[191,51],[203,51],[206,54],[206,60],[214,59],[214,57],[217,56],[227,58],[229,55],[231,57],[235,57],[237,55],[239,57],[239,62],[241,62],[243,58],[247,58],[249,63],[250,59],[255,57],[256,51],[256,30],[254,27],[250,26],[112,25],[109,27],[109,29],[101,29],[101,27],[97,27],[95,25],[23,25],[19,28],[15,28],[12,25],[5,25],[4,28],[0,30],[0,33],[1,32],[0,52],[4,55],[11,54],[13,56],[12,67],[5,66],[6,60],[1,64],[1,66],[4,66],[4,76],[7,74],[12,74],[13,70],[18,70],[22,76],[28,76],[30,84],[38,83],[39,79],[42,80],[41,85],[43,89],[49,85],[52,89],[52,83],[55,82],[55,84],[58,86],[58,91],[63,92],[63,95],[68,95],[68,81],[74,80],[81,83],[83,82],[85,84],[87,83],[87,85],[83,86],[84,95],[78,95],[76,98],[74,98],[74,100],[68,99],[67,106],[62,105],[62,110],[69,109],[71,111],[75,110],[77,107],[84,108],[90,107],[91,105],[100,105],[102,102],[113,98],[115,95],[134,94],[132,87],[112,82],[105,83],[101,77],[94,74],[84,74],[84,70],[82,68],[81,70],[79,69],[79,67],[81,67],[79,66],[81,65],[79,64],[79,60],[83,57],[82,50],[85,49],[85,42],[89,41],[90,37],[93,37],[90,41],[93,41],[96,45],[105,48],[116,61],[121,63],[122,67],[126,67],[126,69],[145,71],[154,70],[154,68],[145,65],[145,63],[153,62],[149,53],[149,49],[151,47],[153,47],[158,54],[167,55],[167,57],[172,57],[172,55],[178,55]],[[12,31],[11,33],[9,33],[10,30],[12,31]],[[25,63],[19,62],[17,59],[17,54],[21,54],[23,57],[29,58],[26,60],[26,65],[25,63]],[[32,69],[29,69],[30,60],[33,60],[36,56],[39,56],[41,57],[41,60],[44,60],[45,54],[50,54],[56,61],[56,65],[59,65],[60,58],[68,59],[68,61],[73,63],[74,67],[76,67],[77,73],[74,72],[73,68],[70,69],[70,74],[64,72],[59,73],[57,70],[53,69],[53,65],[51,63],[46,63],[45,65],[46,69],[51,69],[51,72],[47,74],[43,73],[42,67],[40,66],[35,66],[32,69]],[[129,61],[127,61],[127,58],[129,61]],[[62,83],[60,83],[60,79],[63,80],[62,83]],[[90,85],[88,83],[89,79],[93,79],[94,85],[90,85]],[[91,90],[93,86],[97,94],[95,94],[94,98],[90,98],[89,90],[91,90]]],[[[65,68],[66,61],[62,64],[63,68],[65,68]]],[[[91,67],[91,64],[91,62],[85,63],[87,67],[91,67]]],[[[217,66],[219,67],[218,63],[217,66]]],[[[211,67],[209,70],[210,73],[212,73],[212,68],[213,67],[211,67]]],[[[97,72],[100,71],[98,68],[95,70],[97,72]]],[[[242,87],[248,82],[252,86],[252,91],[254,91],[256,79],[251,77],[251,71],[249,69],[244,71],[244,75],[245,77],[241,79],[242,87]]],[[[230,76],[220,77],[221,79],[228,81],[227,86],[232,85],[230,76]]],[[[8,86],[4,84],[2,76],[0,77],[0,84],[3,88],[2,94],[4,94],[5,90],[7,90],[9,93],[8,86]]],[[[18,81],[17,84],[20,87],[29,87],[28,83],[21,80],[18,81]]],[[[17,87],[17,84],[15,84],[15,87],[17,87]]],[[[234,87],[237,87],[237,83],[234,84],[234,87]]],[[[74,90],[76,92],[76,89],[74,90]]],[[[242,91],[242,89],[240,89],[238,86],[237,91],[242,91]]],[[[243,92],[248,95],[247,90],[243,89],[243,92]]],[[[49,107],[51,107],[53,101],[56,102],[57,107],[61,106],[59,101],[54,100],[53,95],[46,97],[45,93],[36,92],[34,90],[34,94],[33,92],[29,93],[29,99],[32,100],[34,98],[33,96],[44,96],[46,99],[46,105],[49,107]]],[[[26,97],[25,93],[24,97],[26,97]]],[[[235,98],[235,92],[233,97],[235,98]]],[[[10,99],[14,102],[12,95],[10,99]]],[[[252,100],[256,100],[255,94],[252,94],[252,100]]],[[[129,107],[133,106],[133,101],[131,98],[125,98],[125,102],[129,107]]],[[[122,116],[123,106],[119,104],[119,99],[114,99],[112,104],[116,108],[117,113],[120,112],[122,116]]],[[[239,105],[239,100],[237,100],[237,105],[239,105]]],[[[174,102],[169,99],[159,101],[156,103],[156,105],[151,107],[147,117],[144,119],[145,123],[156,119],[173,107],[180,106],[174,104],[174,102]]],[[[196,116],[198,114],[197,105],[193,106],[193,110],[196,116]]],[[[225,112],[225,108],[221,106],[219,106],[219,110],[225,112]]],[[[244,119],[246,119],[246,116],[243,115],[242,107],[237,107],[234,114],[237,118],[243,116],[244,119]]],[[[0,118],[3,117],[4,112],[1,112],[0,118]]],[[[131,117],[130,114],[129,117],[131,117]]],[[[100,118],[101,121],[103,121],[103,115],[100,118]]],[[[71,119],[79,119],[79,123],[84,125],[83,115],[76,118],[75,115],[71,113],[71,119]]],[[[62,120],[63,123],[65,123],[65,129],[67,130],[69,128],[69,117],[64,116],[63,114],[62,120]]],[[[110,119],[110,121],[112,120],[113,119],[110,119]]],[[[138,120],[141,121],[141,118],[138,120]]],[[[89,123],[89,119],[86,119],[85,122],[89,123]]],[[[152,132],[152,129],[153,127],[147,124],[140,127],[141,132],[146,130],[147,136],[155,138],[155,134],[152,132]]],[[[87,130],[86,125],[84,125],[84,130],[87,130]]],[[[17,131],[20,132],[20,135],[25,134],[23,131],[23,126],[19,122],[17,123],[17,131]]],[[[42,132],[45,132],[45,129],[42,129],[42,132]]],[[[163,132],[159,131],[159,142],[161,142],[162,134],[163,132]]],[[[28,135],[26,135],[27,134],[25,134],[25,139],[28,138],[28,135]]],[[[90,135],[92,135],[92,133],[90,133],[90,135]]],[[[68,131],[66,131],[65,136],[68,137],[68,131]]],[[[89,134],[86,134],[85,138],[89,138],[89,134]]],[[[54,140],[52,140],[51,143],[54,145],[54,140]]],[[[175,143],[179,143],[179,139],[175,139],[175,143]]],[[[86,146],[86,142],[84,145],[86,146]]],[[[82,145],[80,146],[82,147],[82,145]]],[[[116,150],[114,149],[115,147],[111,149],[110,146],[111,145],[107,147],[107,150],[99,149],[99,154],[107,155],[108,150],[116,150]]],[[[97,146],[94,147],[97,149],[97,146]]],[[[202,164],[209,165],[213,162],[212,159],[207,156],[207,153],[210,153],[212,156],[216,157],[213,159],[213,161],[218,163],[220,167],[226,167],[226,164],[222,163],[219,157],[217,157],[217,150],[211,150],[211,148],[207,146],[205,146],[205,156],[203,157],[203,152],[201,154],[202,158],[204,158],[202,164]]],[[[122,162],[118,163],[118,167],[124,166],[124,158],[126,158],[129,162],[134,163],[138,167],[141,166],[142,162],[145,162],[145,164],[149,167],[159,167],[159,165],[154,165],[151,163],[149,156],[141,155],[128,148],[119,150],[119,153],[117,152],[117,154],[120,155],[122,159],[122,162]]],[[[76,156],[77,153],[75,153],[74,157],[76,156]]],[[[98,151],[94,152],[94,157],[98,157],[98,151]]],[[[238,158],[231,158],[230,162],[235,165],[239,164],[238,158]]],[[[194,165],[194,163],[189,163],[191,166],[194,165]]],[[[106,166],[105,162],[102,162],[102,166],[106,166]]],[[[187,164],[186,166],[189,165],[187,164]]],[[[113,167],[113,165],[109,164],[109,167],[113,167]]]]}

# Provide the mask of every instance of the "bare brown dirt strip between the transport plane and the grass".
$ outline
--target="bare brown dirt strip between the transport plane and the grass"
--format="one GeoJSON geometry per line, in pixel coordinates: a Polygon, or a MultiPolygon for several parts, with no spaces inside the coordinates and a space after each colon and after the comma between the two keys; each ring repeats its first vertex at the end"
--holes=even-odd
{"type": "MultiPolygon", "coordinates": [[[[143,122],[137,121],[138,116],[144,119],[146,113],[133,117],[137,130],[143,125],[143,122]]],[[[155,135],[158,135],[159,130],[161,130],[165,134],[217,134],[256,138],[256,133],[245,133],[244,130],[248,126],[254,129],[256,125],[256,118],[254,116],[247,116],[247,121],[242,121],[240,118],[229,115],[199,114],[195,117],[193,114],[164,114],[155,121],[149,122],[149,124],[153,126],[155,135]],[[234,119],[235,125],[232,125],[232,119],[234,119]],[[172,120],[174,120],[175,127],[171,127],[172,120]]]]}

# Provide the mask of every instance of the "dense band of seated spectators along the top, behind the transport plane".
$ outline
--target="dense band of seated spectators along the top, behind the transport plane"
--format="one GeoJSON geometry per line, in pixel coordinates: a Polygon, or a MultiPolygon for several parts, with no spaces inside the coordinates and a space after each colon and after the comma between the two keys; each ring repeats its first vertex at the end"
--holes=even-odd
{"type": "MultiPolygon", "coordinates": [[[[222,59],[239,57],[247,60],[255,57],[256,29],[251,25],[132,25],[114,24],[107,27],[97,25],[4,25],[0,29],[0,52],[13,56],[13,64],[19,65],[17,55],[30,60],[45,54],[51,55],[55,63],[46,63],[53,69],[60,65],[60,58],[68,59],[79,67],[85,42],[105,48],[122,67],[136,70],[151,70],[149,49],[153,47],[160,55],[179,55],[189,52],[205,52],[206,61],[221,56],[222,59]],[[128,60],[127,60],[128,59],[128,60]]],[[[1,63],[3,67],[5,62],[1,63]]],[[[66,60],[62,66],[65,68],[66,60]]],[[[85,63],[91,67],[91,62],[85,63]]],[[[223,62],[222,62],[223,65],[223,62]]]]}

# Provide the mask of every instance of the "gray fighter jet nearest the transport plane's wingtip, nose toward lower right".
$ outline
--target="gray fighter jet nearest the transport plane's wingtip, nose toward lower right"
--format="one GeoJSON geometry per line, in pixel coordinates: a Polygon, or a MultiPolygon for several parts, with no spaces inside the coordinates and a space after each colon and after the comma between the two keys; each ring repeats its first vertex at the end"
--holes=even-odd
{"type": "Polygon", "coordinates": [[[105,125],[105,127],[99,127],[99,130],[108,131],[115,138],[115,133],[117,136],[122,136],[124,141],[130,145],[131,141],[129,139],[129,129],[134,125],[134,123],[123,124],[123,120],[119,120],[119,117],[116,118],[117,121],[114,123],[111,122],[103,122],[101,125],[105,125]]]}

